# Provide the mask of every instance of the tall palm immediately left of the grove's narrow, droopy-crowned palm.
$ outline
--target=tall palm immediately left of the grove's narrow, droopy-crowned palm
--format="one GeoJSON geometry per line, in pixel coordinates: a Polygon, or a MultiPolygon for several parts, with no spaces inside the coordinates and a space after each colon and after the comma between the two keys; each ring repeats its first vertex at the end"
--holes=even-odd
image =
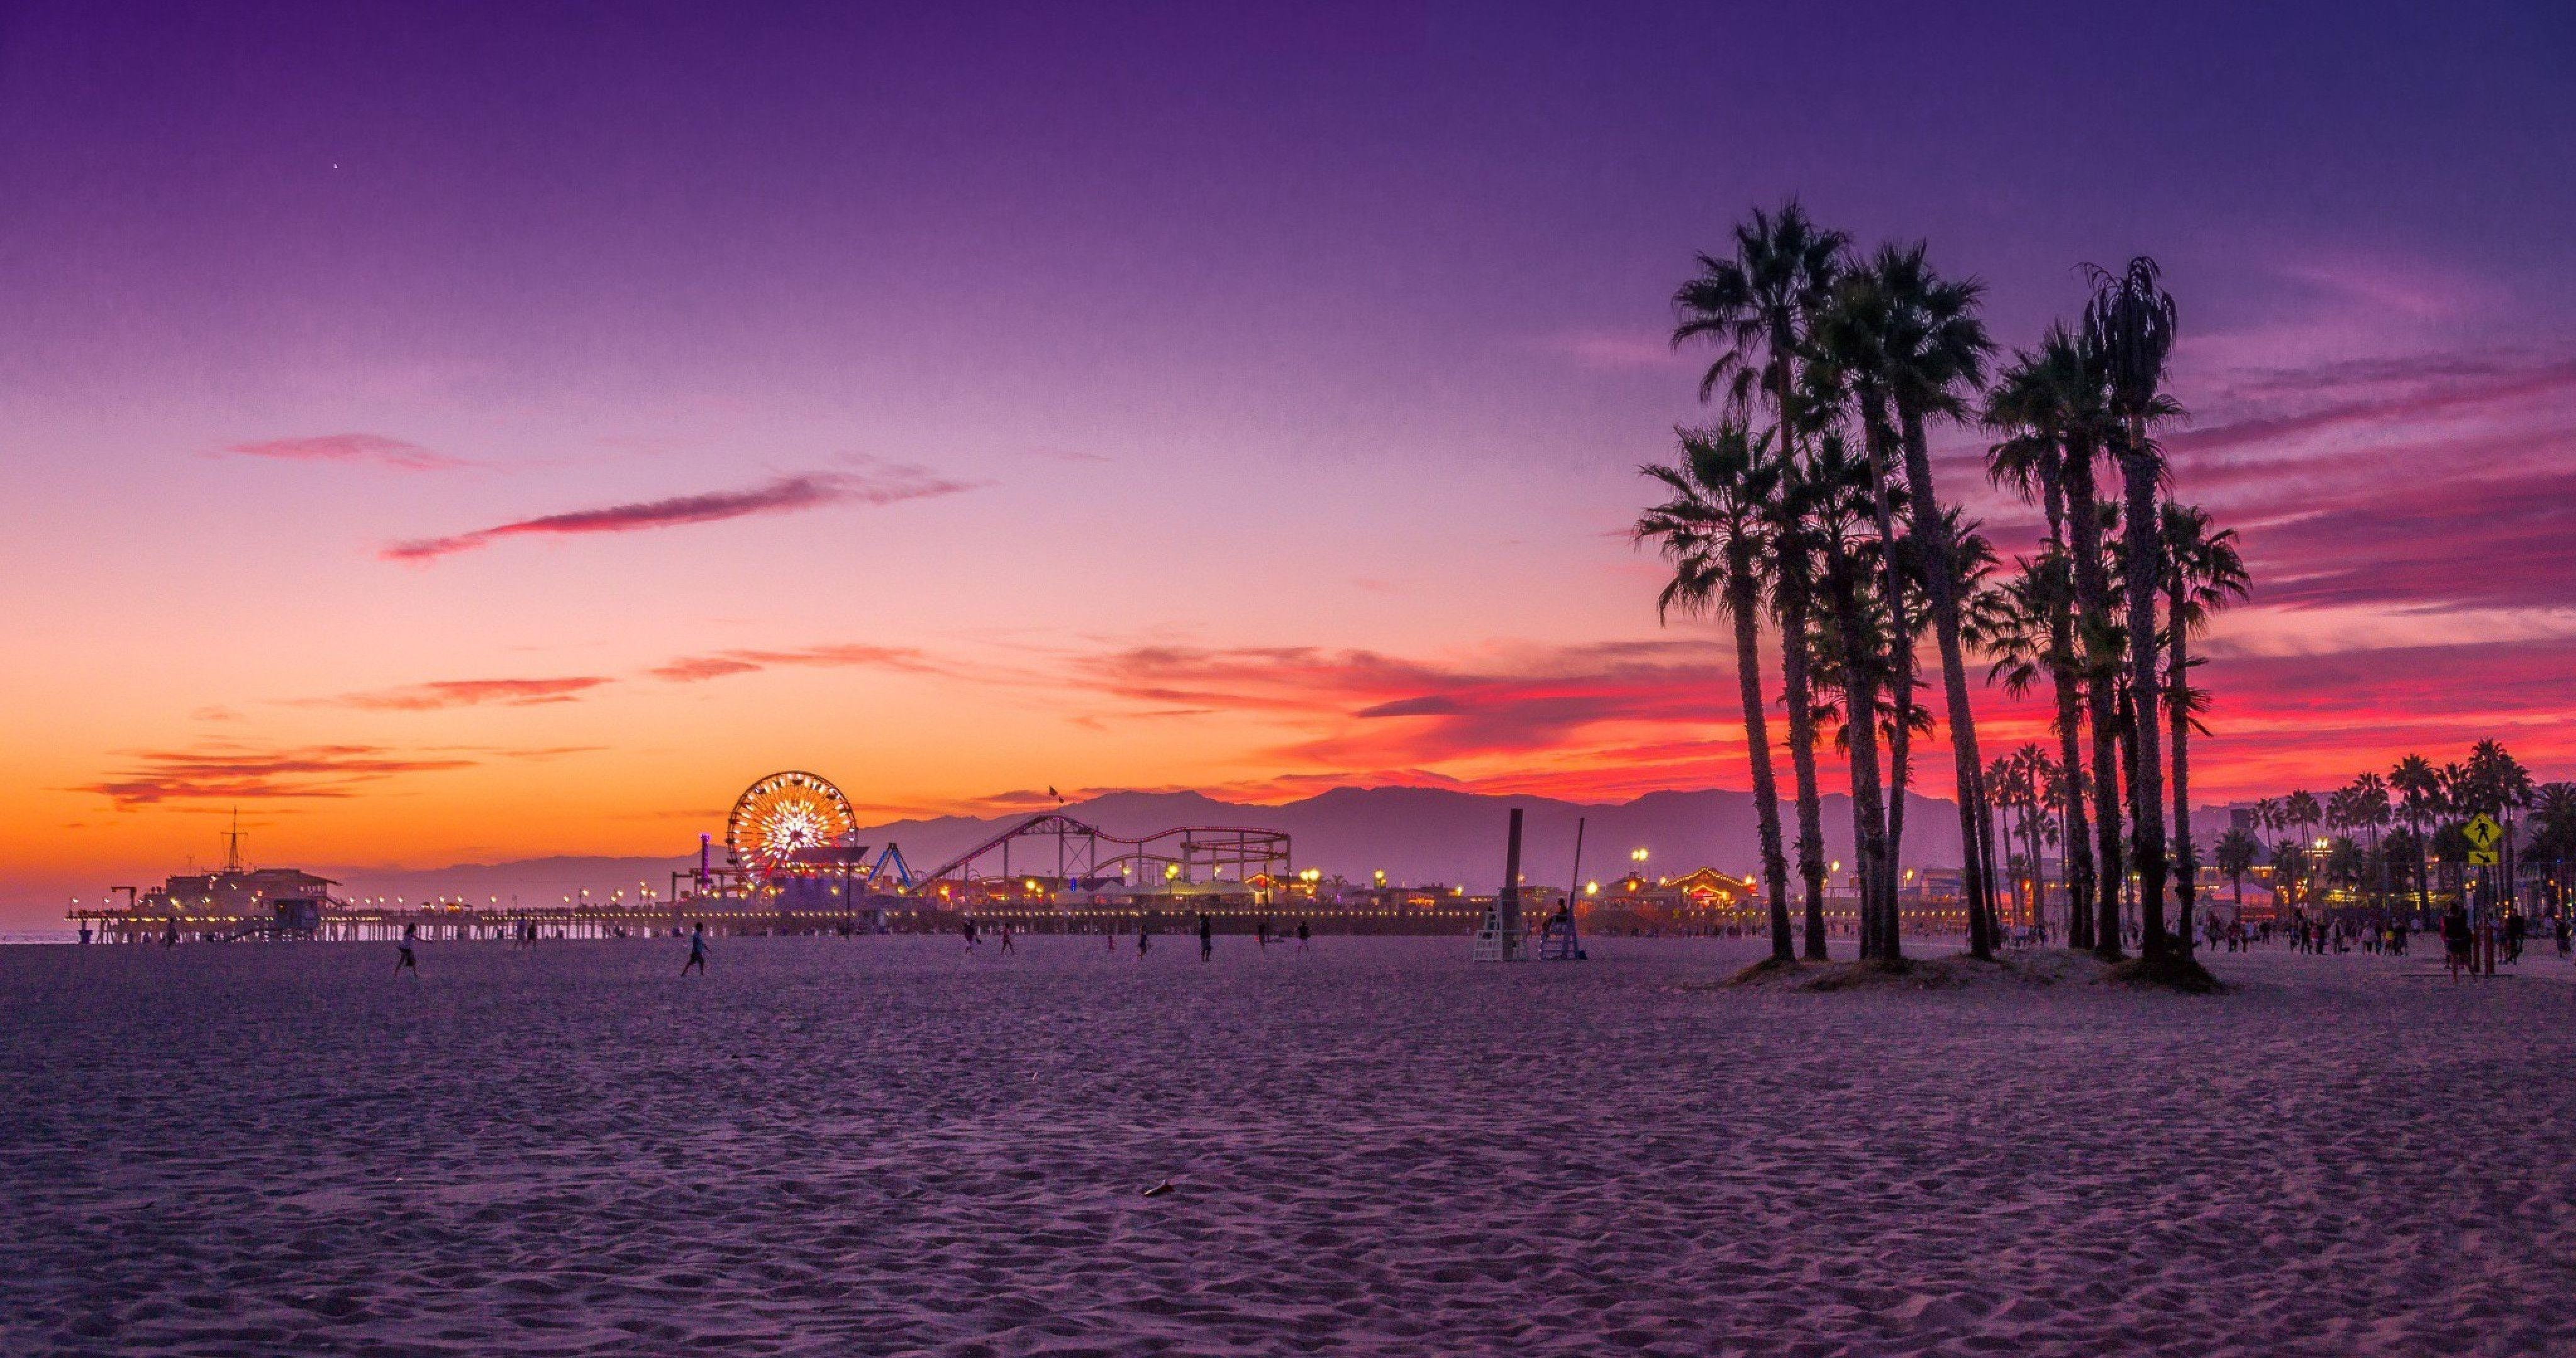
{"type": "MultiPolygon", "coordinates": [[[[2076,595],[2071,575],[2071,544],[2066,541],[2066,459],[2069,410],[2066,389],[2084,381],[2081,356],[2063,330],[2038,350],[2012,356],[1986,392],[1986,428],[2004,435],[1986,451],[1986,474],[1996,484],[2038,500],[2048,521],[2048,549],[2022,564],[2022,585],[2032,618],[2045,624],[2048,678],[2056,691],[2058,765],[2063,768],[2063,807],[2058,817],[2066,832],[2066,943],[2092,946],[2094,863],[2092,835],[2084,817],[2084,662],[2076,652],[2076,595]]],[[[1989,673],[1989,678],[1994,678],[1989,673]]],[[[2030,680],[2007,691],[2025,691],[2030,680]]]]}

